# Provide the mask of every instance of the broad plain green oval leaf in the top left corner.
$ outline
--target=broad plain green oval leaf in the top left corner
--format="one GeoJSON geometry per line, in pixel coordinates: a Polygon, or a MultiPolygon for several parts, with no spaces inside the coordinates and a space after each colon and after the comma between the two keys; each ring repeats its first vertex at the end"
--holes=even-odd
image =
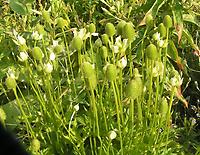
{"type": "Polygon", "coordinates": [[[18,14],[20,14],[20,15],[27,15],[27,14],[28,14],[28,10],[27,10],[27,8],[26,8],[26,5],[24,5],[24,4],[20,3],[20,2],[18,2],[17,0],[11,0],[11,1],[9,2],[9,5],[10,5],[10,8],[11,8],[14,12],[16,12],[16,13],[18,13],[18,14]]]}

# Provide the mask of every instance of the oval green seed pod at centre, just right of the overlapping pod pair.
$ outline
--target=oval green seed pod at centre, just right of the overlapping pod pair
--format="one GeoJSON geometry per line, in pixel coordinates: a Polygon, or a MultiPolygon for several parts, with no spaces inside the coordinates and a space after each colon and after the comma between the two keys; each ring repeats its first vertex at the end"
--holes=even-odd
{"type": "Polygon", "coordinates": [[[106,77],[109,81],[114,81],[117,78],[117,67],[109,64],[106,68],[106,77]]]}

